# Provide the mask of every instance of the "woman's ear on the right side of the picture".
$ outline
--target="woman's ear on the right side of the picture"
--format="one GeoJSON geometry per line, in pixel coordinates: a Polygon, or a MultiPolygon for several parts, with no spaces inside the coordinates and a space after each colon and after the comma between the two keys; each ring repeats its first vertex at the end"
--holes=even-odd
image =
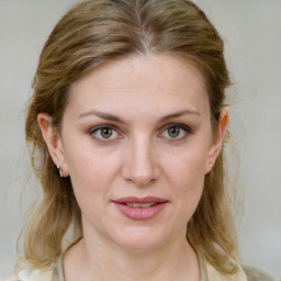
{"type": "Polygon", "coordinates": [[[228,124],[229,124],[229,111],[228,111],[228,108],[224,106],[221,110],[220,124],[218,124],[217,131],[213,136],[213,140],[210,146],[209,158],[206,161],[206,173],[209,173],[212,170],[215,164],[215,160],[221,153],[228,124]]]}

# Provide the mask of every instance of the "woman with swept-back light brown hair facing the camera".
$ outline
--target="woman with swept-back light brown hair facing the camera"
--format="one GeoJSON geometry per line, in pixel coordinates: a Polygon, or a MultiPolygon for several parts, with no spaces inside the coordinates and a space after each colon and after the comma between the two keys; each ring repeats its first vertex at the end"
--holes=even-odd
{"type": "Polygon", "coordinates": [[[224,186],[229,83],[192,2],[75,5],[34,78],[43,195],[14,280],[247,280],[224,186]]]}

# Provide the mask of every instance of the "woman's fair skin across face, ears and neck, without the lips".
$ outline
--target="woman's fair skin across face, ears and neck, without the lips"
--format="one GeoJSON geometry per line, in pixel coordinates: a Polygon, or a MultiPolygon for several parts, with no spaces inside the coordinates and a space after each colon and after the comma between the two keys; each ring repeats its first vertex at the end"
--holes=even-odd
{"type": "Polygon", "coordinates": [[[83,237],[64,259],[67,281],[200,280],[186,227],[220,154],[228,111],[214,134],[194,66],[167,54],[104,64],[71,86],[61,132],[47,114],[37,120],[82,214],[83,237]],[[100,125],[114,128],[101,134],[100,125]],[[168,203],[153,218],[135,221],[112,202],[124,196],[168,203]]]}

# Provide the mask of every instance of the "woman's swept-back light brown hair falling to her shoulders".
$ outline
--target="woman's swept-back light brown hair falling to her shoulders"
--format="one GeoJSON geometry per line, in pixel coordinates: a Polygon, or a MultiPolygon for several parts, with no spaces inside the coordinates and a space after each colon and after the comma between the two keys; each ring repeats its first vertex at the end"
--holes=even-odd
{"type": "MultiPolygon", "coordinates": [[[[134,54],[170,54],[202,72],[212,126],[220,123],[231,85],[224,44],[206,15],[189,0],[88,0],[57,23],[40,56],[25,133],[32,167],[43,193],[25,227],[25,259],[36,267],[55,261],[70,225],[81,232],[81,214],[69,178],[59,178],[37,124],[52,116],[60,130],[69,87],[106,61],[134,54]]],[[[203,194],[188,223],[187,239],[223,273],[237,271],[237,237],[225,188],[223,150],[205,176],[203,194]]]]}

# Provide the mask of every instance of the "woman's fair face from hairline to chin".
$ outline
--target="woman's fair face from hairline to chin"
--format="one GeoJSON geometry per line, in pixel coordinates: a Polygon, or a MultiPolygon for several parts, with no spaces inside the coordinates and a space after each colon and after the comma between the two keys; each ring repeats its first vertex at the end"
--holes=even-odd
{"type": "Polygon", "coordinates": [[[202,76],[168,55],[126,57],[75,82],[55,139],[85,237],[140,250],[186,239],[222,145],[202,76]]]}

